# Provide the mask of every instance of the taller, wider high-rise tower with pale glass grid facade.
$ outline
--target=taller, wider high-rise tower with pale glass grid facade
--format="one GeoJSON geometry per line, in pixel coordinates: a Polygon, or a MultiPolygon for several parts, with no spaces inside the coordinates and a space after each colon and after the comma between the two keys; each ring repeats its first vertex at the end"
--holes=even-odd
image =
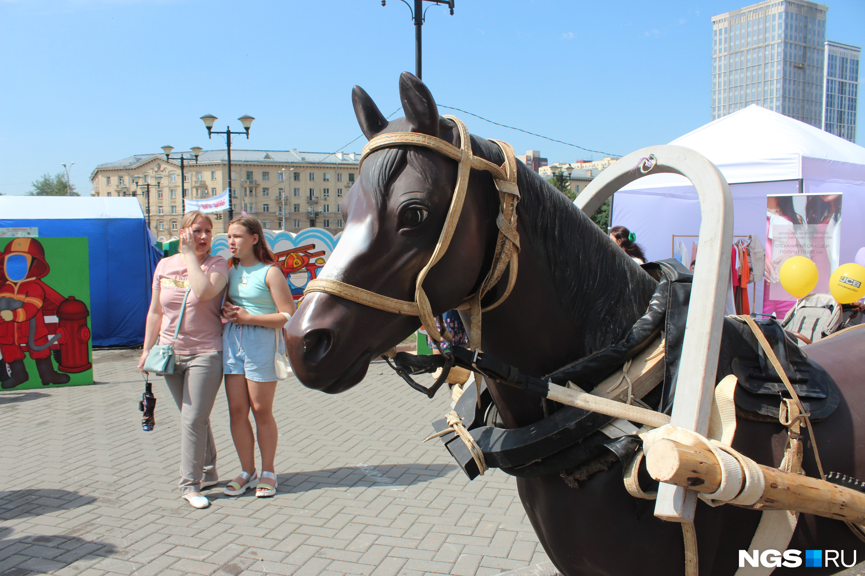
{"type": "Polygon", "coordinates": [[[712,18],[712,119],[759,104],[823,127],[826,10],[761,2],[712,18]]]}

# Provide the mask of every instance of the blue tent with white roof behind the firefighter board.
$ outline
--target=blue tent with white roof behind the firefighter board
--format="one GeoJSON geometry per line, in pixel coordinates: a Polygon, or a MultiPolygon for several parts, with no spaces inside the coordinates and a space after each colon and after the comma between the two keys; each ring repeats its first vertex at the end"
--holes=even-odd
{"type": "Polygon", "coordinates": [[[162,257],[136,198],[0,196],[0,228],[87,237],[93,345],[144,342],[153,270],[162,257]]]}

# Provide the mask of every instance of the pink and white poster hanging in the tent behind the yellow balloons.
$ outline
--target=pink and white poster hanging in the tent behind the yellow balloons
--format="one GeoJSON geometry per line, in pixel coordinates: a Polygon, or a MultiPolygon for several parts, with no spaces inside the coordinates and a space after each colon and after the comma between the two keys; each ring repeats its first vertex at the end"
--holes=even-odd
{"type": "Polygon", "coordinates": [[[791,256],[817,264],[814,293],[829,293],[838,267],[841,242],[841,194],[772,194],[766,197],[766,289],[763,312],[783,318],[796,298],[781,286],[778,271],[791,256]]]}

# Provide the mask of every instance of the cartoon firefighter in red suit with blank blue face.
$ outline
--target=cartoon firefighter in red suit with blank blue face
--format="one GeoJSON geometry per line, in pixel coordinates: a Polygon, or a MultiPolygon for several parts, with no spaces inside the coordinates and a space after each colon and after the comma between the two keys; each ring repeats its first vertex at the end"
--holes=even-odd
{"type": "Polygon", "coordinates": [[[0,254],[0,367],[9,366],[9,373],[0,375],[4,389],[29,380],[25,353],[33,358],[42,384],[69,382],[69,376],[55,371],[51,362],[51,346],[61,334],[48,339],[45,313],[56,314],[64,298],[40,280],[49,271],[45,250],[35,238],[16,238],[0,254]]]}

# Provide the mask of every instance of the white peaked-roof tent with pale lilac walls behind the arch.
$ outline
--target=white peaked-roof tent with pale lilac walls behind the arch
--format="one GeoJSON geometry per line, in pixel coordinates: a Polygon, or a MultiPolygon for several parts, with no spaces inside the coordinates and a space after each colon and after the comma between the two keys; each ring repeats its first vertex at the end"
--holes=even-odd
{"type": "MultiPolygon", "coordinates": [[[[766,243],[766,195],[843,193],[840,263],[865,246],[865,148],[757,104],[714,120],[670,144],[694,149],[721,169],[733,193],[734,235],[766,243]]],[[[653,174],[617,192],[612,225],[637,234],[650,260],[673,256],[673,236],[696,240],[700,206],[688,180],[653,174]]],[[[755,309],[760,311],[762,282],[755,309]]]]}

